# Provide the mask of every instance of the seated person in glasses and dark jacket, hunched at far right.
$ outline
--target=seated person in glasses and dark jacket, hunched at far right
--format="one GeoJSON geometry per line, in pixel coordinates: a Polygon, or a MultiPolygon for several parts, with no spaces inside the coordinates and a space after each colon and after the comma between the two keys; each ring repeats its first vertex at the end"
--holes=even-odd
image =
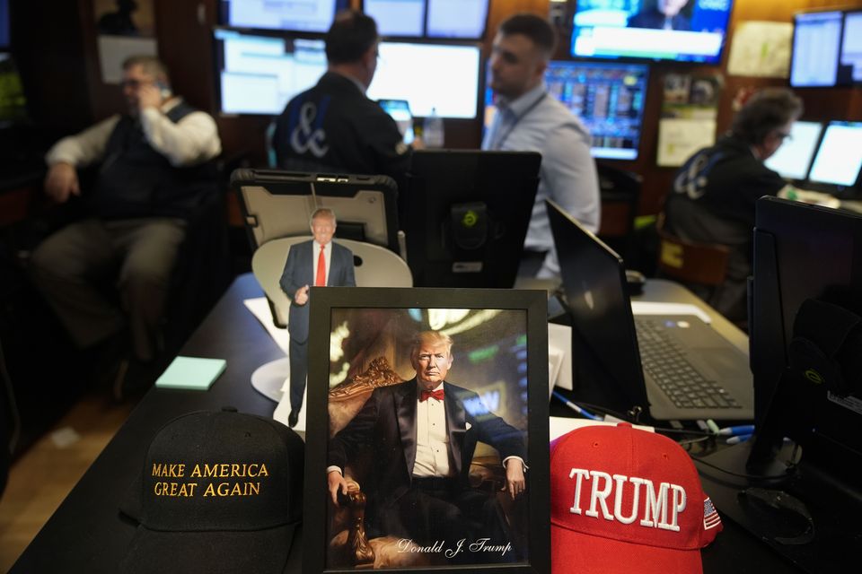
{"type": "Polygon", "coordinates": [[[766,88],[745,102],[730,132],[685,162],[664,203],[664,230],[680,239],[730,248],[726,282],[716,290],[691,285],[725,317],[746,317],[746,279],[752,269],[754,204],[787,196],[792,187],[763,165],[790,135],[803,103],[786,88],[766,88]]]}

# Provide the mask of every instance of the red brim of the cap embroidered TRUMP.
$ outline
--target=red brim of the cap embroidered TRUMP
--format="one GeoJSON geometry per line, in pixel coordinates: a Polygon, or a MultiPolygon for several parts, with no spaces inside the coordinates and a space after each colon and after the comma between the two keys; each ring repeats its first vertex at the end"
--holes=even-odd
{"type": "Polygon", "coordinates": [[[550,525],[550,568],[578,574],[703,574],[700,551],[658,548],[550,525]]]}

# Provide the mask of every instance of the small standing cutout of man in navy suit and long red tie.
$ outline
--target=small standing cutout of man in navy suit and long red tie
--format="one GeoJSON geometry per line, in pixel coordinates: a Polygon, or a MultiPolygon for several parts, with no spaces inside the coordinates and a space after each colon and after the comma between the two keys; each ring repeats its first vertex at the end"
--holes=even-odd
{"type": "Polygon", "coordinates": [[[353,252],[332,241],[336,229],[335,213],[317,209],[312,213],[314,239],[297,243],[287,253],[285,271],[279,284],[290,299],[287,333],[290,335],[290,414],[287,422],[295,427],[303,406],[305,378],[308,374],[308,300],[315,287],[356,287],[353,252]]]}

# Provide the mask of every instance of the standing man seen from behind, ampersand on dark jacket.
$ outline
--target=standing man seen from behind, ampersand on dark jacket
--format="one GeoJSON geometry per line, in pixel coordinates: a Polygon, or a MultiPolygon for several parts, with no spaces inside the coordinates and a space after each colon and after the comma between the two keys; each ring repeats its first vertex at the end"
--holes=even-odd
{"type": "Polygon", "coordinates": [[[286,170],[384,174],[401,183],[410,148],[395,121],[365,91],[377,69],[377,24],[357,11],[336,15],[326,33],[326,74],[287,103],[272,147],[286,170]]]}

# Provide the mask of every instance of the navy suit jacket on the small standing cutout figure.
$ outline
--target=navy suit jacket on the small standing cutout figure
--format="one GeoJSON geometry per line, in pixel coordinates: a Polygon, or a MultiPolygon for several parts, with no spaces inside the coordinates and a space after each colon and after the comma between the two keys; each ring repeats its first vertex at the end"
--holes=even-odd
{"type": "MultiPolygon", "coordinates": [[[[308,302],[296,305],[294,297],[296,290],[303,285],[314,284],[314,240],[309,239],[291,246],[287,252],[285,271],[281,274],[281,288],[293,303],[287,318],[287,333],[295,343],[305,343],[308,340],[308,302]]],[[[330,276],[326,280],[328,287],[356,287],[356,274],[353,267],[353,252],[332,242],[332,260],[330,261],[330,276]]]]}

